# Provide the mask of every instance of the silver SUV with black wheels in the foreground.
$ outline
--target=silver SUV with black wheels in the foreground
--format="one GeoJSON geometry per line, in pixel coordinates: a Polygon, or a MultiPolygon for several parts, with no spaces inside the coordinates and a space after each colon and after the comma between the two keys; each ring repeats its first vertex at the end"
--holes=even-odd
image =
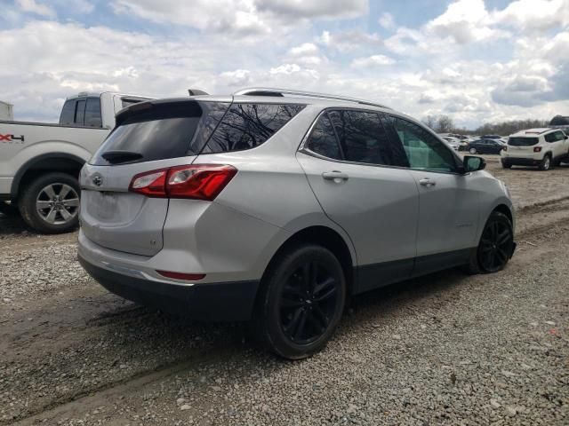
{"type": "Polygon", "coordinates": [[[512,204],[484,168],[358,99],[251,89],[143,102],[81,171],[79,260],[119,296],[251,320],[269,349],[300,359],[350,296],[508,263],[512,204]]]}

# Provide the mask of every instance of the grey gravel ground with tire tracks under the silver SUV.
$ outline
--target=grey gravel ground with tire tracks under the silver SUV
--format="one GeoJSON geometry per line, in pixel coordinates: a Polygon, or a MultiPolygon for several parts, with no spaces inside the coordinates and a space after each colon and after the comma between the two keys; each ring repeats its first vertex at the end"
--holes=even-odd
{"type": "Polygon", "coordinates": [[[299,362],[239,324],[111,295],[76,263],[76,234],[0,217],[0,424],[569,424],[569,200],[522,201],[565,197],[569,170],[498,166],[520,208],[506,271],[358,298],[299,362]],[[551,192],[533,193],[543,176],[551,192]]]}

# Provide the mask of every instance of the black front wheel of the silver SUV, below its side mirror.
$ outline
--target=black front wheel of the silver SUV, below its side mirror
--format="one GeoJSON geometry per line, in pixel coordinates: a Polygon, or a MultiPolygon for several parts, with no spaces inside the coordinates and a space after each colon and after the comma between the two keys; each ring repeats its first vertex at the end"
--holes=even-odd
{"type": "Polygon", "coordinates": [[[508,264],[514,251],[514,232],[509,218],[493,211],[486,221],[478,247],[470,254],[463,271],[469,274],[499,272],[508,264]]]}

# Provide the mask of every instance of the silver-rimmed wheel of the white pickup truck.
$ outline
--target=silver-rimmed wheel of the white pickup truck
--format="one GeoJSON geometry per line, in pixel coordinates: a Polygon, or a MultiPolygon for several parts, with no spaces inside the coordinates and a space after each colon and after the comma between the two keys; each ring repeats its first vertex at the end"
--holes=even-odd
{"type": "Polygon", "coordinates": [[[20,213],[40,233],[68,233],[79,221],[79,183],[66,173],[48,173],[26,186],[20,213]]]}

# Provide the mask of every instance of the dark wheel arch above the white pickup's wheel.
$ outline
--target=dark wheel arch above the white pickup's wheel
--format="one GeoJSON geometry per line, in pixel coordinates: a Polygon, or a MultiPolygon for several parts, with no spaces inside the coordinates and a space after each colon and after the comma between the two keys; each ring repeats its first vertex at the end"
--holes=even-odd
{"type": "Polygon", "coordinates": [[[68,153],[41,154],[28,160],[16,172],[12,180],[11,197],[15,199],[20,193],[20,188],[27,185],[41,172],[60,171],[73,177],[79,177],[79,171],[85,161],[81,157],[68,153]]]}

